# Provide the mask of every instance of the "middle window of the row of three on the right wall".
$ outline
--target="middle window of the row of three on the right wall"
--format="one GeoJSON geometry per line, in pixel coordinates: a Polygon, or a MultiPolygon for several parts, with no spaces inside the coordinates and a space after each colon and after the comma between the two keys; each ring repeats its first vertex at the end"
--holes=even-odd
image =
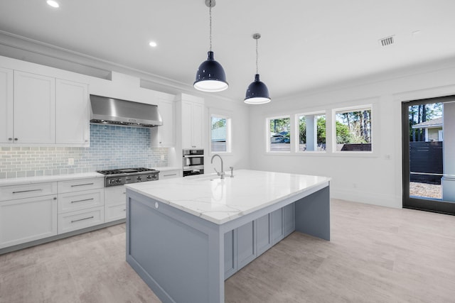
{"type": "Polygon", "coordinates": [[[297,115],[299,151],[326,151],[326,114],[297,115]]]}

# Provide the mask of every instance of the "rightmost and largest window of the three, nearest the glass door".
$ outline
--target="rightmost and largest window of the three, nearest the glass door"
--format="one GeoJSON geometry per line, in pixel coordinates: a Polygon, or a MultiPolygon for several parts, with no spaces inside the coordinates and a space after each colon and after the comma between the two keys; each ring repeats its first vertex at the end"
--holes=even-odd
{"type": "Polygon", "coordinates": [[[336,151],[372,151],[371,107],[338,110],[336,118],[336,151]]]}

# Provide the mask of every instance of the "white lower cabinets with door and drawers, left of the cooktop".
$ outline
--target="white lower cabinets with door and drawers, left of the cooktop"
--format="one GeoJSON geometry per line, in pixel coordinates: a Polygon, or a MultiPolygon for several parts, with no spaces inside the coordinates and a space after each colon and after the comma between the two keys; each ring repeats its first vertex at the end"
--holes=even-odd
{"type": "Polygon", "coordinates": [[[0,186],[0,249],[105,223],[104,186],[104,178],[0,186]]]}

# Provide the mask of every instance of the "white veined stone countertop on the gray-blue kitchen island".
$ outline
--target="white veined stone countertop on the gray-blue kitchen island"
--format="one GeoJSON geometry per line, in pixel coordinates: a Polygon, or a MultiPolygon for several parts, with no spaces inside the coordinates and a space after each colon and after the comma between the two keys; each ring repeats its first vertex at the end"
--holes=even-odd
{"type": "Polygon", "coordinates": [[[283,172],[235,170],[127,184],[127,188],[195,216],[224,224],[301,192],[328,186],[331,178],[283,172]]]}

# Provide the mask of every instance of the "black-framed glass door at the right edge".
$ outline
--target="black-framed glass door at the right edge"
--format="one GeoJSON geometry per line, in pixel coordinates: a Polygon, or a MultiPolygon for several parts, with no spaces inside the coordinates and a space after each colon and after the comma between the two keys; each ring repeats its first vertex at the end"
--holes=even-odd
{"type": "Polygon", "coordinates": [[[403,207],[455,214],[455,96],[402,103],[403,207]]]}

